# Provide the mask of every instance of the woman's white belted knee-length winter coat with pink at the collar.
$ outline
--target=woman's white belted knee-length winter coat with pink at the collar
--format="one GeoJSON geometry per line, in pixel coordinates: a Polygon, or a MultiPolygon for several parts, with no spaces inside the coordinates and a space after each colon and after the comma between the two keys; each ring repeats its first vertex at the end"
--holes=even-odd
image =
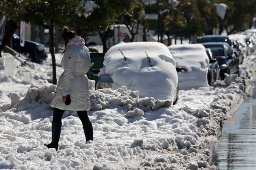
{"type": "Polygon", "coordinates": [[[86,72],[90,69],[90,53],[84,39],[75,37],[67,44],[61,60],[61,74],[51,106],[61,110],[90,110],[90,91],[86,72]],[[62,95],[70,95],[70,105],[65,105],[62,95]]]}

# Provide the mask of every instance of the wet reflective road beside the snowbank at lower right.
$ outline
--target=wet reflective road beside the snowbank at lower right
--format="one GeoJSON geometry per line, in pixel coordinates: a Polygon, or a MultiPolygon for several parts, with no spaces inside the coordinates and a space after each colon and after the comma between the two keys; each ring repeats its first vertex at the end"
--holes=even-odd
{"type": "Polygon", "coordinates": [[[210,165],[218,170],[256,170],[256,85],[231,119],[224,121],[218,143],[209,144],[210,165]]]}

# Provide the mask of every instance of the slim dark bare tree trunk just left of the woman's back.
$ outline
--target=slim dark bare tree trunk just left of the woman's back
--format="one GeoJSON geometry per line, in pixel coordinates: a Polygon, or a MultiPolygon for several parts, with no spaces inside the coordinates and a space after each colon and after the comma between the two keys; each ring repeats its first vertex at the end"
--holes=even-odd
{"type": "Polygon", "coordinates": [[[53,34],[53,25],[49,27],[49,35],[50,35],[50,53],[52,55],[52,84],[56,85],[57,84],[57,79],[56,79],[56,62],[55,62],[55,54],[54,54],[54,34],[53,34]]]}

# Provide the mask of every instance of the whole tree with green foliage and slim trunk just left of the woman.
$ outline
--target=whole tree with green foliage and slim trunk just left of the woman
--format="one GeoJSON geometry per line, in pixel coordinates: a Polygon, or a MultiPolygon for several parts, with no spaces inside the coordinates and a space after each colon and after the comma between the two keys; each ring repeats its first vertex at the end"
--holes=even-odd
{"type": "MultiPolygon", "coordinates": [[[[54,33],[55,26],[71,26],[72,16],[79,13],[80,3],[78,0],[11,0],[3,3],[3,8],[12,8],[12,11],[5,12],[11,20],[17,23],[20,20],[44,26],[49,29],[49,48],[52,55],[52,83],[56,84],[56,64],[54,55],[54,33]]],[[[13,33],[12,33],[13,34],[13,33]]]]}

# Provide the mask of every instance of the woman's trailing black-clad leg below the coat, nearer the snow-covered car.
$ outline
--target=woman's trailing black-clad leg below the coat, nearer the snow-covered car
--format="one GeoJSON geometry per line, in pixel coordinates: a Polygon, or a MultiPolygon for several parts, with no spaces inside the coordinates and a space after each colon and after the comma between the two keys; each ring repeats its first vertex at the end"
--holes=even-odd
{"type": "Polygon", "coordinates": [[[77,115],[83,124],[86,141],[93,141],[93,125],[92,122],[90,122],[87,111],[77,111],[77,115]]]}

